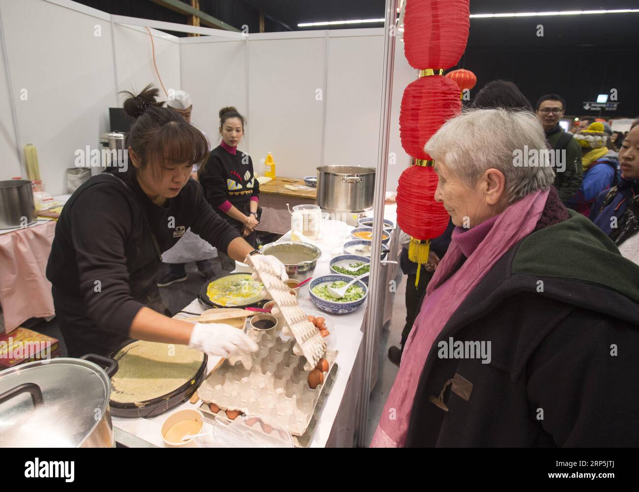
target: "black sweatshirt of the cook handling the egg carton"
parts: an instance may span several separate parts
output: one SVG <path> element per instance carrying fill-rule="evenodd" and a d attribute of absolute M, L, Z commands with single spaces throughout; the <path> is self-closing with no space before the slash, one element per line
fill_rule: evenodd
<path fill-rule="evenodd" d="M 124 175 L 117 169 L 93 176 L 65 204 L 56 224 L 47 279 L 65 304 L 84 308 L 77 313 L 80 318 L 90 319 L 99 330 L 127 336 L 160 265 L 149 227 L 161 252 L 189 227 L 224 252 L 239 235 L 213 211 L 197 181 L 189 180 L 161 207 L 135 179 L 127 181 L 127 188 L 109 176 Z"/>

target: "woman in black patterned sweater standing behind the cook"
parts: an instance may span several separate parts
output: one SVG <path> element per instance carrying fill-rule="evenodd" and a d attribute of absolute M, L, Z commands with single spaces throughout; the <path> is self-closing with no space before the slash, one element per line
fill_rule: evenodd
<path fill-rule="evenodd" d="M 259 183 L 253 162 L 247 153 L 237 150 L 244 136 L 244 117 L 235 107 L 220 109 L 222 142 L 211 151 L 208 162 L 199 170 L 204 197 L 213 210 L 227 220 L 253 247 L 257 246 L 255 229 L 259 224 Z M 222 268 L 233 270 L 235 261 L 218 251 Z"/>

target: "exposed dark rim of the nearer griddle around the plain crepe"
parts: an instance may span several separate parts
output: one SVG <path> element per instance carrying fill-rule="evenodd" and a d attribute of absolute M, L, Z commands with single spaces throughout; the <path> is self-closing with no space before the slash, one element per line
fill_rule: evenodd
<path fill-rule="evenodd" d="M 127 345 L 130 345 L 137 340 L 128 340 L 120 344 L 109 357 L 115 358 L 118 355 L 118 352 L 123 350 Z M 194 392 L 196 392 L 197 387 L 204 380 L 204 376 L 206 375 L 206 362 L 208 357 L 204 354 L 204 358 L 202 360 L 202 364 L 197 368 L 196 373 L 193 374 L 193 377 L 190 378 L 186 383 L 181 385 L 179 388 L 167 393 L 166 395 L 158 396 L 156 398 L 136 402 L 136 403 L 120 403 L 117 401 L 109 401 L 109 407 L 111 408 L 111 414 L 114 417 L 123 417 L 124 419 L 137 419 L 138 417 L 142 417 L 144 419 L 151 419 L 151 417 L 157 417 L 158 415 L 162 415 L 167 410 L 171 410 L 175 406 L 178 406 L 180 403 L 187 401 Z M 117 373 L 116 373 L 117 374 Z"/>

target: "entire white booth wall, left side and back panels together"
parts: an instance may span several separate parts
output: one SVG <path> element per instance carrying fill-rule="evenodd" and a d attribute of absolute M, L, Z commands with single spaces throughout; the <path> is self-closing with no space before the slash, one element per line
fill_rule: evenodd
<path fill-rule="evenodd" d="M 65 193 L 65 170 L 73 167 L 76 150 L 98 148 L 100 134 L 109 130 L 108 108 L 121 105 L 118 92 L 139 91 L 149 82 L 160 88 L 150 37 L 144 27 L 116 24 L 109 14 L 70 0 L 0 0 L 0 16 L 9 67 L 0 77 L 0 179 L 26 175 L 19 156 L 32 143 L 47 192 Z M 268 151 L 280 176 L 315 174 L 321 164 L 376 167 L 382 28 L 248 38 L 226 31 L 190 38 L 151 33 L 165 88 L 190 93 L 192 121 L 214 145 L 219 109 L 235 105 L 248 120 L 240 148 L 256 167 Z M 399 105 L 416 77 L 398 39 L 389 190 L 409 161 L 399 141 Z"/>

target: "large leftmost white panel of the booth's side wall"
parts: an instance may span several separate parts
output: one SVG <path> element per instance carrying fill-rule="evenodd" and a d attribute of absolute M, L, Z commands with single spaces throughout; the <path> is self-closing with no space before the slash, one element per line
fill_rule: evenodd
<path fill-rule="evenodd" d="M 42 180 L 59 194 L 75 150 L 97 144 L 107 125 L 105 108 L 115 102 L 109 16 L 42 0 L 2 1 L 0 8 L 20 134 L 10 155 L 34 144 Z M 101 36 L 94 35 L 96 26 Z M 3 127 L 11 114 L 3 112 Z M 10 176 L 3 164 L 2 178 L 12 176 L 26 173 L 13 169 Z"/>

